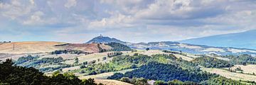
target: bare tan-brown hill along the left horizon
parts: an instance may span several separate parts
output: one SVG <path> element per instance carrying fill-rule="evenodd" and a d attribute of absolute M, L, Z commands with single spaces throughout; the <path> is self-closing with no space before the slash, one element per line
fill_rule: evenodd
<path fill-rule="evenodd" d="M 102 49 L 109 50 L 112 47 L 99 44 Z M 85 52 L 99 52 L 97 43 L 92 44 L 71 44 L 65 42 L 46 42 L 46 41 L 29 41 L 29 42 L 5 42 L 0 45 L 0 53 L 8 54 L 26 54 L 53 52 L 55 50 L 82 50 Z"/>

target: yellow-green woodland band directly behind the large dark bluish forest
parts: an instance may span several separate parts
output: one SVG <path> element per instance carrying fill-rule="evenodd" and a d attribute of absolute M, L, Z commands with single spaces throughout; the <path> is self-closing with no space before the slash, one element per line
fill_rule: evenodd
<path fill-rule="evenodd" d="M 148 62 L 160 62 L 169 63 L 171 60 L 176 60 L 174 55 L 119 55 L 113 57 L 111 62 L 102 64 L 88 64 L 87 67 L 83 69 L 73 70 L 73 72 L 82 72 L 87 74 L 100 74 L 104 72 L 114 72 L 124 69 L 134 69 L 141 67 Z"/>

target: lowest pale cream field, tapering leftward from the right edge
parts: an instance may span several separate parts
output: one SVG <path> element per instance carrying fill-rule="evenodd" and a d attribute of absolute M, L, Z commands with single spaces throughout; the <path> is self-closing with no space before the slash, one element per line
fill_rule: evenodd
<path fill-rule="evenodd" d="M 243 80 L 243 81 L 256 81 L 256 76 L 250 74 L 242 74 L 236 72 L 229 72 L 225 69 L 217 69 L 217 68 L 202 68 L 203 71 L 220 74 L 220 76 L 235 79 L 235 80 Z"/>

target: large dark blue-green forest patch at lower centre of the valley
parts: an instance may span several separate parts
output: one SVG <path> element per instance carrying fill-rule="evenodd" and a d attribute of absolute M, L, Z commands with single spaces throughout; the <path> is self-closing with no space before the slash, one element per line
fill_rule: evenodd
<path fill-rule="evenodd" d="M 122 74 L 115 74 L 109 79 L 119 79 L 122 78 Z M 132 72 L 126 72 L 123 74 L 123 77 L 143 77 L 145 79 L 152 79 L 152 80 L 162 80 L 162 81 L 171 81 L 174 79 L 178 79 L 181 81 L 194 81 L 194 82 L 201 82 L 208 80 L 212 77 L 218 77 L 215 74 L 209 74 L 207 72 L 191 72 L 187 69 L 182 69 L 177 65 L 173 64 L 161 64 L 157 62 L 151 62 L 146 64 L 139 69 L 134 69 Z"/>

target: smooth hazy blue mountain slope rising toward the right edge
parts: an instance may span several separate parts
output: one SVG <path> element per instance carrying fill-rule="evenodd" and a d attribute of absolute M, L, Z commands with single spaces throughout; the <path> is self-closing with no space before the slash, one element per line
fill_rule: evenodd
<path fill-rule="evenodd" d="M 243 33 L 213 35 L 204 38 L 181 40 L 179 42 L 195 45 L 210 45 L 215 47 L 239 47 L 256 50 L 256 30 L 249 30 Z"/>

